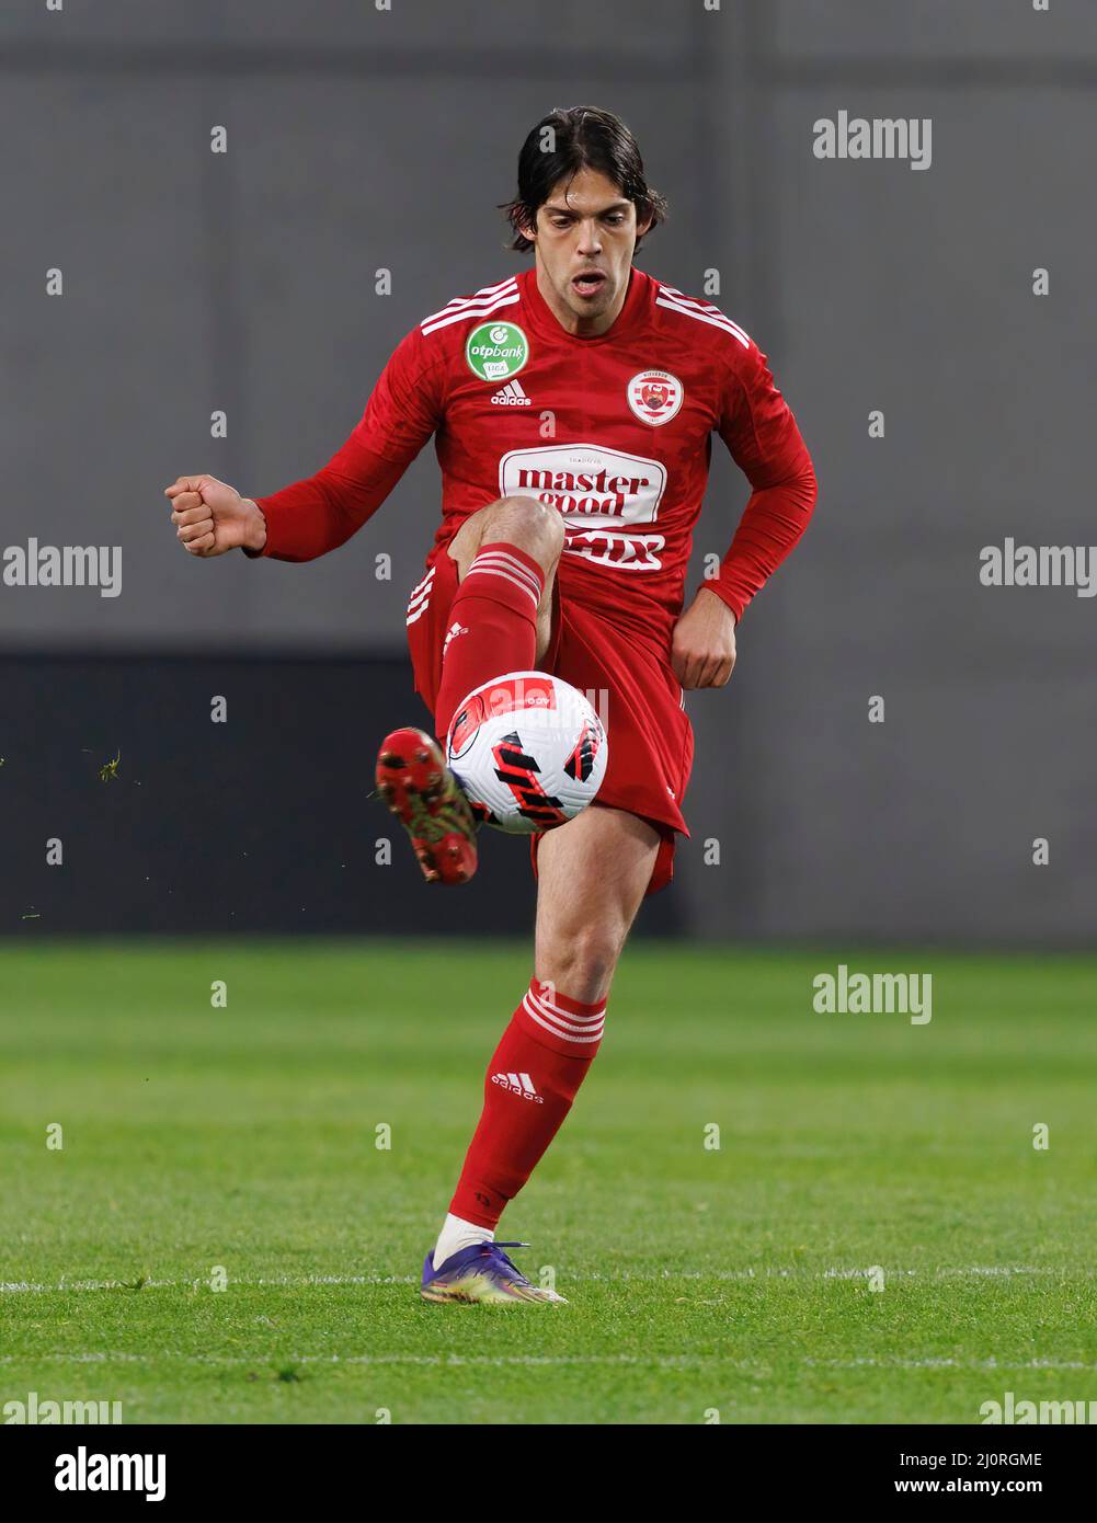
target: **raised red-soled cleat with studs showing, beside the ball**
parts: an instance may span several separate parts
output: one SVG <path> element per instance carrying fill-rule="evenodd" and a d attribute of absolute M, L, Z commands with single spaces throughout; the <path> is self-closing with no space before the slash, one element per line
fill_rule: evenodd
<path fill-rule="evenodd" d="M 381 742 L 376 790 L 411 836 L 427 882 L 468 883 L 477 822 L 437 742 L 422 730 L 393 730 Z"/>

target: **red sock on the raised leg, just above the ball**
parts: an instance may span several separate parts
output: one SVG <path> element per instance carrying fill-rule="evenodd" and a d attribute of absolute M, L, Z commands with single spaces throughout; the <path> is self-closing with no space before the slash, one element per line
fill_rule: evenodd
<path fill-rule="evenodd" d="M 503 541 L 483 545 L 449 606 L 449 634 L 434 728 L 445 736 L 463 698 L 504 672 L 530 672 L 536 659 L 536 609 L 544 571 Z"/>

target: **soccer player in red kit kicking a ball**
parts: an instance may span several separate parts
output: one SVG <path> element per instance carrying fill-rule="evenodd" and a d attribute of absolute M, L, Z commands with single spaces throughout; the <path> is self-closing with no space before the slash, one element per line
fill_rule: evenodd
<path fill-rule="evenodd" d="M 532 267 L 425 317 L 321 471 L 259 500 L 209 475 L 166 489 L 190 554 L 311 560 L 361 528 L 433 436 L 442 522 L 407 627 L 436 734 L 474 688 L 527 670 L 593 696 L 608 725 L 597 801 L 533 838 L 533 978 L 488 1065 L 424 1264 L 430 1301 L 562 1299 L 530 1284 L 503 1252 L 524 1244 L 495 1243 L 495 1228 L 594 1060 L 640 902 L 670 879 L 693 760 L 683 690 L 728 681 L 744 609 L 815 504 L 757 344 L 635 267 L 664 203 L 623 122 L 587 107 L 538 122 L 507 215 Z M 753 492 L 719 574 L 683 612 L 713 434 Z M 427 879 L 468 879 L 475 821 L 434 740 L 393 731 L 378 784 Z"/>

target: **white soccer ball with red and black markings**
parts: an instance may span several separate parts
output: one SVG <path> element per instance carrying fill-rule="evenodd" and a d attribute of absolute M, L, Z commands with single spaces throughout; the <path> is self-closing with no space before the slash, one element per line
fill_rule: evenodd
<path fill-rule="evenodd" d="M 562 825 L 602 786 L 609 742 L 584 694 L 545 672 L 474 688 L 446 736 L 446 762 L 477 813 L 510 835 Z"/>

